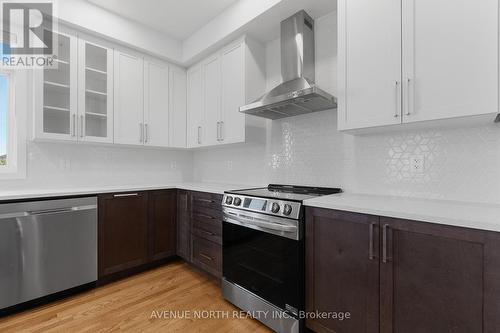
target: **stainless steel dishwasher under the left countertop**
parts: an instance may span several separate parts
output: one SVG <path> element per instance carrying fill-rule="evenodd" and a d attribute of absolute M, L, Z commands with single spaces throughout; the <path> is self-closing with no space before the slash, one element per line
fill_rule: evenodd
<path fill-rule="evenodd" d="M 96 197 L 0 204 L 0 309 L 96 280 Z"/>

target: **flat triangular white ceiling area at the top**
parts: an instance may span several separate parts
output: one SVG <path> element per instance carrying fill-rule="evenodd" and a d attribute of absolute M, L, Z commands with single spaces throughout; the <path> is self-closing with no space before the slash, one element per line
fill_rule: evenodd
<path fill-rule="evenodd" d="M 237 0 L 87 0 L 178 40 L 184 40 Z"/>

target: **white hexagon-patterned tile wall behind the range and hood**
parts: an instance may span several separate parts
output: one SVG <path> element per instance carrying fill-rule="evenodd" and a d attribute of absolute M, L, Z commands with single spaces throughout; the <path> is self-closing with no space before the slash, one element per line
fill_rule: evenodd
<path fill-rule="evenodd" d="M 336 14 L 316 20 L 316 82 L 335 93 Z M 267 45 L 268 89 L 281 81 L 279 40 Z M 197 151 L 197 181 L 340 186 L 346 191 L 500 203 L 500 126 L 352 136 L 337 114 L 268 121 L 261 140 Z M 413 155 L 423 173 L 410 172 Z"/>

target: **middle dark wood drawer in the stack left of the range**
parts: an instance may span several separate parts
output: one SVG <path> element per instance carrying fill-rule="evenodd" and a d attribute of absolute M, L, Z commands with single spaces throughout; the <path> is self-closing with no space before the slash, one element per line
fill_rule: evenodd
<path fill-rule="evenodd" d="M 222 244 L 222 214 L 220 212 L 211 209 L 193 212 L 192 221 L 193 234 Z"/>

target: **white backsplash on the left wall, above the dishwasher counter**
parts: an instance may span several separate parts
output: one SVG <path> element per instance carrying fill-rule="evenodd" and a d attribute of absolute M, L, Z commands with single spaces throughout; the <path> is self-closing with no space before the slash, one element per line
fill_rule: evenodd
<path fill-rule="evenodd" d="M 192 179 L 187 151 L 30 142 L 27 178 L 2 190 L 74 186 L 154 185 Z"/>

